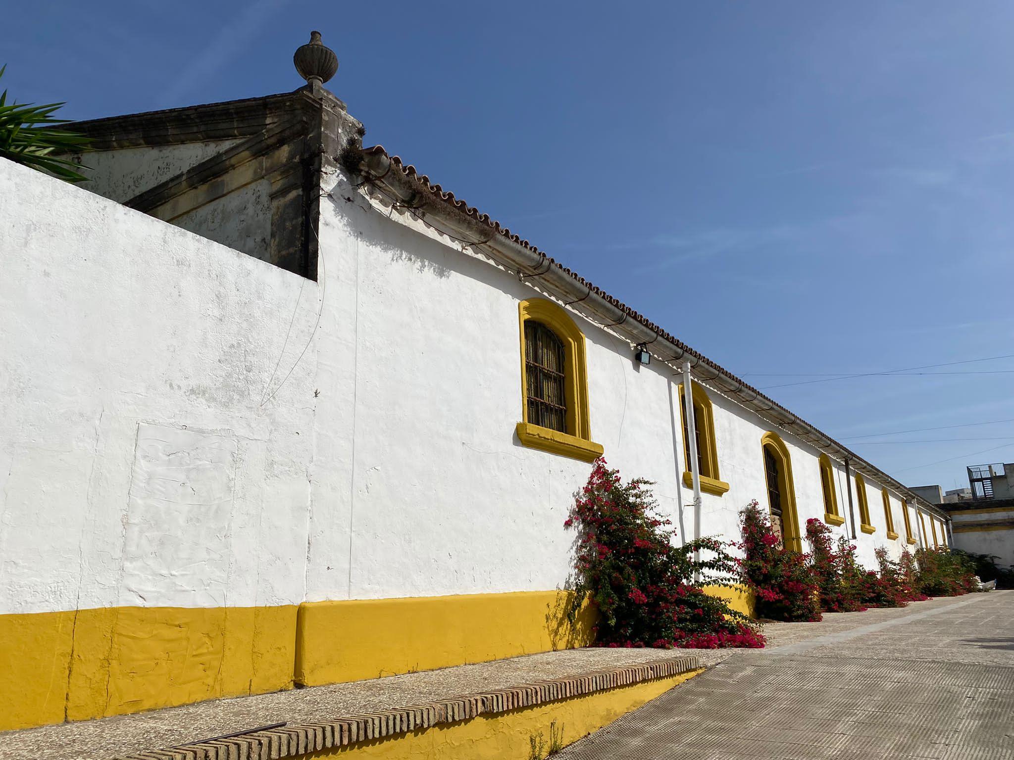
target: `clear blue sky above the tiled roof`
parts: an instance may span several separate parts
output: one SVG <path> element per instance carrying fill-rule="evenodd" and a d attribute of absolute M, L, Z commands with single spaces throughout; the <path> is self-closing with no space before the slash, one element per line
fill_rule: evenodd
<path fill-rule="evenodd" d="M 1012 372 L 771 387 L 1014 355 L 1014 3 L 567 7 L 40 0 L 0 63 L 89 119 L 295 89 L 318 28 L 367 144 L 902 482 L 1014 461 L 1011 422 L 853 438 L 1014 420 Z"/>

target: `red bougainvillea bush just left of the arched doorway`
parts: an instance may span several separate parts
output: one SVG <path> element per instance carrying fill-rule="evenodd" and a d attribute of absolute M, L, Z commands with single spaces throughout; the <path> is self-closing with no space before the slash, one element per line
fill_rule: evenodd
<path fill-rule="evenodd" d="M 740 573 L 756 597 L 757 617 L 819 620 L 818 584 L 809 556 L 782 546 L 755 500 L 742 509 L 739 519 Z"/>

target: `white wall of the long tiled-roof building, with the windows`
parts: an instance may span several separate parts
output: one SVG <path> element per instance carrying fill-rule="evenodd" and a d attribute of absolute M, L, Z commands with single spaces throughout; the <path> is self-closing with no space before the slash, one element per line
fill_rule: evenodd
<path fill-rule="evenodd" d="M 563 528 L 590 465 L 525 448 L 518 302 L 540 294 L 408 215 L 369 208 L 342 186 L 322 206 L 325 308 L 319 330 L 307 597 L 384 598 L 552 589 L 570 572 Z M 355 198 L 349 202 L 346 197 Z M 592 438 L 611 466 L 655 481 L 664 512 L 694 535 L 682 485 L 678 385 L 660 363 L 575 315 L 587 339 Z M 772 429 L 711 391 L 722 497 L 704 495 L 702 535 L 738 537 L 738 512 L 767 506 L 760 437 Z M 819 452 L 782 434 L 800 525 L 822 518 Z M 334 466 L 347 461 L 349 469 Z M 848 518 L 844 474 L 838 502 Z M 877 531 L 858 558 L 898 556 L 880 485 L 867 479 Z M 858 508 L 857 508 L 858 519 Z M 835 528 L 845 535 L 845 527 Z"/>

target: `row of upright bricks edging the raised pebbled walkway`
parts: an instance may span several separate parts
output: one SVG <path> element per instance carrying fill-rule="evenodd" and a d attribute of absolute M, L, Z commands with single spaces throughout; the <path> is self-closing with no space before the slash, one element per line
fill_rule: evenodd
<path fill-rule="evenodd" d="M 333 747 L 392 737 L 479 715 L 508 712 L 558 699 L 667 678 L 700 668 L 697 657 L 657 660 L 643 665 L 592 671 L 567 678 L 534 681 L 496 691 L 484 691 L 408 707 L 343 715 L 335 720 L 286 726 L 281 729 L 185 744 L 167 750 L 140 752 L 118 760 L 281 760 Z"/>

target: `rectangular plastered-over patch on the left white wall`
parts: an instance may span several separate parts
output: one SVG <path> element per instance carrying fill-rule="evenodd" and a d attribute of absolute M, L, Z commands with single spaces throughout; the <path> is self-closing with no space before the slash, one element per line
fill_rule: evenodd
<path fill-rule="evenodd" d="M 226 604 L 236 440 L 141 423 L 120 602 Z"/>

